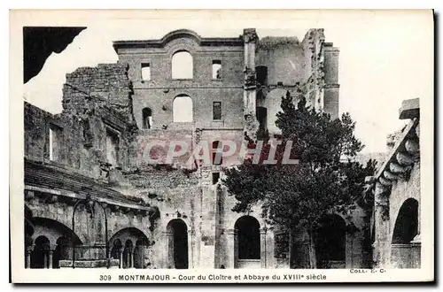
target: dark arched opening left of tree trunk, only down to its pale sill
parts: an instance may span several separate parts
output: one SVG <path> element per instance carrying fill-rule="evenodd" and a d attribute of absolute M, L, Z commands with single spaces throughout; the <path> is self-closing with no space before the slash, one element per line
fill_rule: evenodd
<path fill-rule="evenodd" d="M 238 259 L 260 259 L 260 223 L 252 216 L 237 219 Z"/>

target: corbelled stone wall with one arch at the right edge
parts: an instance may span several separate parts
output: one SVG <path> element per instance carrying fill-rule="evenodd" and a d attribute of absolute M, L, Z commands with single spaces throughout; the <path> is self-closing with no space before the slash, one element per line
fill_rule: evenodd
<path fill-rule="evenodd" d="M 370 227 L 377 267 L 421 265 L 419 109 L 418 98 L 403 102 L 400 119 L 409 119 L 408 125 L 395 134 L 393 145 L 389 137 L 391 152 L 370 178 L 369 196 L 374 202 Z"/>

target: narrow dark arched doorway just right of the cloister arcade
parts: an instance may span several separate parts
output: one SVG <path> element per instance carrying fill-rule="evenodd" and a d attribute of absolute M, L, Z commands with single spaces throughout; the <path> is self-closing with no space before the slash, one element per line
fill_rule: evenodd
<path fill-rule="evenodd" d="M 168 262 L 175 269 L 187 269 L 188 227 L 182 219 L 172 219 L 167 224 Z"/>

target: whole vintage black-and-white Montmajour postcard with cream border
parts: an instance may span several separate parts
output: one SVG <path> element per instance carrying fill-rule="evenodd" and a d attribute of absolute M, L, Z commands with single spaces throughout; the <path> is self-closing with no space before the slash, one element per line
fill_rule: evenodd
<path fill-rule="evenodd" d="M 10 13 L 13 282 L 434 280 L 431 10 Z"/>

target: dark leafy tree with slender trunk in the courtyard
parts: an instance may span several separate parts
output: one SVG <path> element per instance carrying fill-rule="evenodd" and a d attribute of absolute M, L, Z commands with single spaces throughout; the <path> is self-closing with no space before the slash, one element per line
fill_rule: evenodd
<path fill-rule="evenodd" d="M 307 230 L 309 265 L 315 268 L 315 234 L 321 219 L 331 212 L 354 208 L 364 178 L 375 171 L 375 162 L 369 160 L 363 167 L 352 161 L 363 145 L 354 136 L 355 123 L 348 113 L 332 120 L 329 114 L 308 107 L 304 97 L 296 107 L 289 92 L 282 97 L 281 107 L 276 119 L 281 134 L 275 137 L 282 142 L 276 148 L 277 164 L 263 163 L 270 151 L 266 144 L 259 163 L 247 158 L 237 168 L 225 169 L 223 183 L 229 195 L 237 199 L 233 211 L 251 211 L 253 205 L 261 203 L 261 216 L 270 224 L 285 227 L 291 234 L 298 228 Z M 250 148 L 258 144 L 247 139 Z M 291 158 L 299 158 L 299 164 L 284 164 L 289 142 Z"/>

